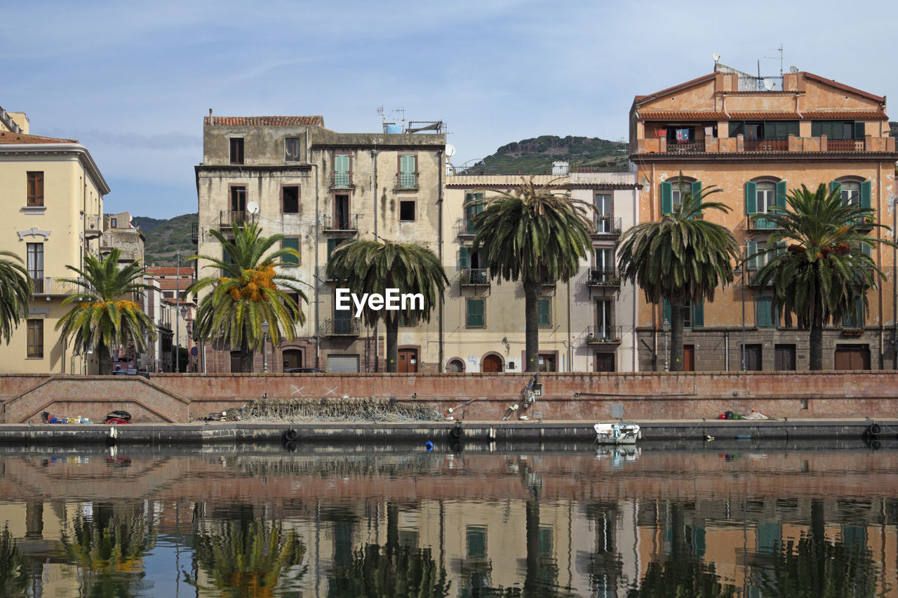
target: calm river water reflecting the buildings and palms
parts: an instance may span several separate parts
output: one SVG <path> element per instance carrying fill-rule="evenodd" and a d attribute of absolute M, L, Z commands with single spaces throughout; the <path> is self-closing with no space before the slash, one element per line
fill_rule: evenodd
<path fill-rule="evenodd" d="M 4 596 L 898 595 L 898 443 L 0 448 Z"/>

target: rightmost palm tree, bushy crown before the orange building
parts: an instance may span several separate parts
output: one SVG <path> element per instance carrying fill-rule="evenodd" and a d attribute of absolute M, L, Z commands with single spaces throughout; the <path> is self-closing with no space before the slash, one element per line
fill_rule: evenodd
<path fill-rule="evenodd" d="M 854 312 L 857 295 L 866 311 L 867 289 L 885 276 L 865 250 L 894 243 L 859 231 L 862 225 L 888 227 L 873 223 L 873 209 L 843 203 L 838 188 L 821 184 L 812 191 L 802 185 L 785 199 L 785 208 L 763 215 L 779 229 L 770 234 L 768 249 L 748 259 L 766 257 L 756 283 L 773 288 L 786 326 L 794 314 L 799 327 L 810 329 L 808 365 L 821 370 L 823 326 Z"/>

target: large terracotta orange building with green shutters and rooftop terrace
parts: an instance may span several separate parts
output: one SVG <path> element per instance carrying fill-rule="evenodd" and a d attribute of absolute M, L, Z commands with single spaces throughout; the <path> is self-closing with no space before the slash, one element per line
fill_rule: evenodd
<path fill-rule="evenodd" d="M 838 187 L 846 201 L 872 207 L 878 222 L 895 229 L 890 206 L 898 154 L 888 136 L 885 97 L 790 70 L 759 77 L 718 64 L 709 75 L 636 96 L 629 144 L 642 185 L 641 222 L 657 220 L 679 201 L 682 171 L 683 191 L 722 189 L 712 199 L 732 211 L 706 217 L 733 231 L 744 257 L 765 247 L 772 225 L 751 215 L 767 212 L 780 194 L 802 184 Z M 891 231 L 870 228 L 894 240 Z M 872 257 L 887 277 L 868 292 L 866 309 L 858 302 L 858 313 L 826 328 L 824 369 L 895 367 L 895 250 L 879 247 Z M 785 328 L 772 292 L 753 284 L 760 258 L 746 266 L 713 303 L 686 310 L 684 369 L 807 369 L 807 331 Z M 665 369 L 669 318 L 663 304 L 641 303 L 640 371 Z"/>

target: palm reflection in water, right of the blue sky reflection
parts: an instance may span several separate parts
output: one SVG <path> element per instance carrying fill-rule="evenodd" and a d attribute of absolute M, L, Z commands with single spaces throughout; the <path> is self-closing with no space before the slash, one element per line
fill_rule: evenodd
<path fill-rule="evenodd" d="M 303 562 L 304 544 L 281 522 L 240 517 L 216 527 L 217 532 L 197 532 L 196 558 L 221 595 L 272 596 L 287 570 Z M 305 568 L 299 576 L 304 573 Z"/>

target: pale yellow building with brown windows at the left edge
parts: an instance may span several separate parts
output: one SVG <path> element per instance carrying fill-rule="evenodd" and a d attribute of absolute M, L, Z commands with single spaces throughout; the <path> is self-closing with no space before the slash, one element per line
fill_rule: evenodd
<path fill-rule="evenodd" d="M 84 145 L 74 139 L 28 134 L 24 114 L 0 110 L 0 250 L 24 260 L 34 299 L 8 345 L 0 344 L 0 372 L 91 374 L 92 356 L 74 356 L 55 330 L 67 312 L 63 299 L 88 252 L 100 255 L 103 196 L 109 185 Z"/>

